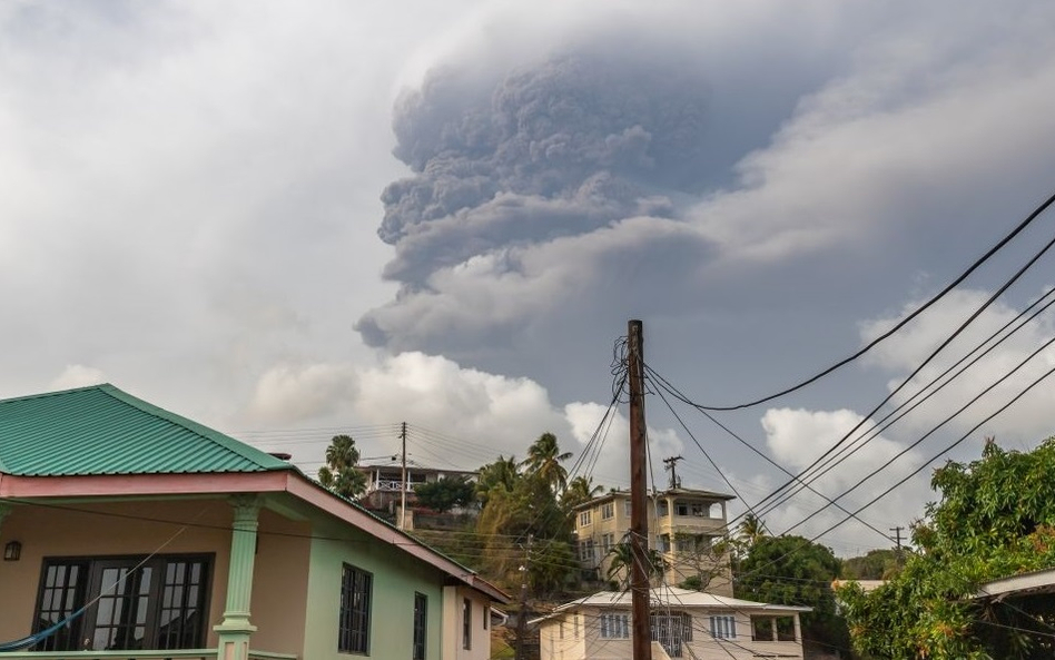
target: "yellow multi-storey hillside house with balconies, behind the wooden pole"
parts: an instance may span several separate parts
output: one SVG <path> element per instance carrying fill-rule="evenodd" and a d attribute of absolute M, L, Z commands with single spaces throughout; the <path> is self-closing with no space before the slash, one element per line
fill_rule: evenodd
<path fill-rule="evenodd" d="M 667 560 L 663 582 L 690 578 L 719 595 L 732 595 L 728 552 L 714 542 L 728 533 L 727 502 L 732 495 L 693 489 L 670 489 L 649 496 L 649 546 Z M 611 491 L 574 509 L 579 562 L 584 575 L 608 577 L 612 549 L 630 532 L 630 493 Z"/>

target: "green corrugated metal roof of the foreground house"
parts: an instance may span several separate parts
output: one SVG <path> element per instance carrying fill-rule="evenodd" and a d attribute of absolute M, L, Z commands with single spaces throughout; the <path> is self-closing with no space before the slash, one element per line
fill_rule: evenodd
<path fill-rule="evenodd" d="M 103 384 L 0 401 L 0 472 L 21 476 L 295 470 Z"/>

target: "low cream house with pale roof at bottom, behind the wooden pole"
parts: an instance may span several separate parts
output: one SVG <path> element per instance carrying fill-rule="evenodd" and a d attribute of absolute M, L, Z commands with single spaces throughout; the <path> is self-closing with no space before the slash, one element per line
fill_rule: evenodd
<path fill-rule="evenodd" d="M 802 658 L 799 614 L 810 608 L 658 588 L 650 595 L 652 658 Z M 602 591 L 531 621 L 541 660 L 630 660 L 631 594 Z"/>

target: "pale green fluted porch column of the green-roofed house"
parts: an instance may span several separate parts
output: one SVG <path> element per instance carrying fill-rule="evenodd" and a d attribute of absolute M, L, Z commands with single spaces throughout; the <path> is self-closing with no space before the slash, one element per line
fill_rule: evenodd
<path fill-rule="evenodd" d="M 248 660 L 249 636 L 256 627 L 249 623 L 253 597 L 253 564 L 256 560 L 256 529 L 260 511 L 258 495 L 235 495 L 230 499 L 235 518 L 230 532 L 230 565 L 227 572 L 227 607 L 224 620 L 214 625 L 219 650 L 217 660 Z"/>

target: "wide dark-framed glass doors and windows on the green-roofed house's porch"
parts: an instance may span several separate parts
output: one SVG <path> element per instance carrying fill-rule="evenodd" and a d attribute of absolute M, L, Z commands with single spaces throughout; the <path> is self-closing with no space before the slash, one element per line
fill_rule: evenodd
<path fill-rule="evenodd" d="M 36 630 L 50 628 L 85 603 L 92 604 L 37 650 L 200 648 L 210 563 L 206 556 L 175 555 L 47 559 Z"/>

